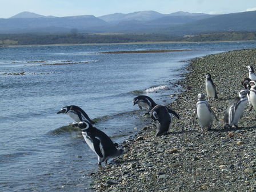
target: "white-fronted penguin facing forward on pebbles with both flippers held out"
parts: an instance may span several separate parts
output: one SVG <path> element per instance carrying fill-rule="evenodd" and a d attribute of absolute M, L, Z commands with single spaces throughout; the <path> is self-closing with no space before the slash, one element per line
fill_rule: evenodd
<path fill-rule="evenodd" d="M 211 126 L 213 125 L 213 116 L 217 121 L 218 118 L 214 114 L 209 104 L 205 101 L 205 94 L 199 93 L 197 98 L 197 109 L 194 111 L 193 124 L 195 122 L 195 117 L 197 116 L 202 131 L 203 127 L 207 127 L 207 131 L 209 131 L 211 129 Z"/>

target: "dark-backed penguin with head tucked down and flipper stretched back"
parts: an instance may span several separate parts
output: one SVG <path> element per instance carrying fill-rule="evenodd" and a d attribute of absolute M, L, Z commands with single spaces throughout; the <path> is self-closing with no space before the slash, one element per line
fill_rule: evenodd
<path fill-rule="evenodd" d="M 164 105 L 157 105 L 150 111 L 150 117 L 157 121 L 157 134 L 155 136 L 164 135 L 169 130 L 172 115 L 175 115 L 179 119 L 179 115 L 175 111 L 169 109 Z"/>

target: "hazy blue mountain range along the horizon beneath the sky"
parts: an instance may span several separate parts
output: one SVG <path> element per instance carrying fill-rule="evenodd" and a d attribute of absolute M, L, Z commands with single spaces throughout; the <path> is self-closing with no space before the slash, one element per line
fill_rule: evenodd
<path fill-rule="evenodd" d="M 44 16 L 22 12 L 0 19 L 0 33 L 162 33 L 190 35 L 217 31 L 256 31 L 256 11 L 211 15 L 178 11 L 115 13 L 95 17 Z"/>

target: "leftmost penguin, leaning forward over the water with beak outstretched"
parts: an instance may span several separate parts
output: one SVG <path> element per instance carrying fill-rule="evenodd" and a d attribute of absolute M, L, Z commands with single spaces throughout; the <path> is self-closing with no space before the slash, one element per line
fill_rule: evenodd
<path fill-rule="evenodd" d="M 60 111 L 58 111 L 57 114 L 65 113 L 69 115 L 72 119 L 74 119 L 75 122 L 81 122 L 81 121 L 88 121 L 91 124 L 94 124 L 95 122 L 92 121 L 88 115 L 83 111 L 80 107 L 75 105 L 65 106 L 62 107 Z"/>

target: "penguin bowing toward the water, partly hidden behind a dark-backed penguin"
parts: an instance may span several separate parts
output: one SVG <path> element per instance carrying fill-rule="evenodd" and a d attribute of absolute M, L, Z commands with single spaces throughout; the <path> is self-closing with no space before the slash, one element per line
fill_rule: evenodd
<path fill-rule="evenodd" d="M 155 103 L 153 99 L 146 95 L 139 95 L 138 97 L 135 97 L 133 99 L 133 106 L 136 104 L 138 104 L 139 109 L 147 110 L 147 113 L 145 114 L 149 114 L 150 110 L 157 106 L 157 103 Z"/>

